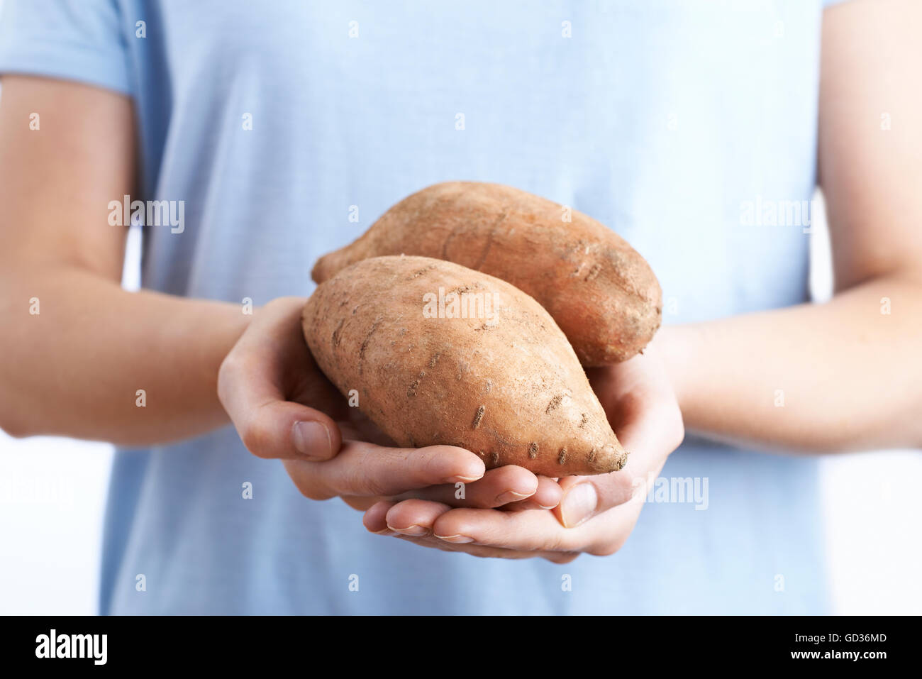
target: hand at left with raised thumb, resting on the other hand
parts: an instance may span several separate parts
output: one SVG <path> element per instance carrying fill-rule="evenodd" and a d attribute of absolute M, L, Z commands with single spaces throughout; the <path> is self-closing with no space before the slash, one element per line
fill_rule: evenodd
<path fill-rule="evenodd" d="M 219 399 L 243 445 L 259 458 L 281 459 L 301 494 L 339 495 L 361 510 L 411 497 L 509 509 L 560 502 L 556 482 L 522 467 L 486 471 L 464 448 L 392 447 L 314 363 L 301 331 L 305 302 L 279 297 L 256 309 L 218 375 Z M 455 497 L 459 482 L 463 499 Z M 397 530 L 413 534 L 413 527 Z"/>

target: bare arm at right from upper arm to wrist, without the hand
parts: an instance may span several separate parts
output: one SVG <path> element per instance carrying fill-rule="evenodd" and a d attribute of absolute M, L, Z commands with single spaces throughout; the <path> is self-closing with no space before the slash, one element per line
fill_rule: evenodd
<path fill-rule="evenodd" d="M 824 13 L 819 156 L 836 294 L 663 328 L 689 430 L 809 451 L 922 447 L 919 25 L 912 0 Z"/>

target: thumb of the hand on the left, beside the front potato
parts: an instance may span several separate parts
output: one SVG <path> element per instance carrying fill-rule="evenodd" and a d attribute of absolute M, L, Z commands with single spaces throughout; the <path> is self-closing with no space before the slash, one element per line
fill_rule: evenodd
<path fill-rule="evenodd" d="M 342 438 L 325 413 L 285 400 L 258 357 L 229 356 L 221 364 L 218 395 L 243 445 L 259 458 L 325 460 Z"/>

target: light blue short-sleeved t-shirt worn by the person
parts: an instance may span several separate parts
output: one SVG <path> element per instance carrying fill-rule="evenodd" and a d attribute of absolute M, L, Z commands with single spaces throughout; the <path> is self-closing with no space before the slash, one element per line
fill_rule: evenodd
<path fill-rule="evenodd" d="M 6 0 L 0 71 L 134 98 L 136 198 L 184 201 L 182 232 L 145 227 L 146 288 L 307 295 L 318 256 L 469 179 L 608 224 L 684 323 L 808 298 L 792 204 L 815 185 L 821 17 L 821 0 Z M 120 450 L 101 611 L 826 611 L 815 459 L 689 440 L 662 476 L 620 553 L 558 566 L 372 535 L 231 427 Z"/>

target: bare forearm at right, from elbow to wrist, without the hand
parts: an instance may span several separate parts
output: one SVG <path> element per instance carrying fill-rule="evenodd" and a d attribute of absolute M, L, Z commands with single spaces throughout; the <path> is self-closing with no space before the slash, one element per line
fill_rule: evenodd
<path fill-rule="evenodd" d="M 922 446 L 916 282 L 872 280 L 828 304 L 667 327 L 655 341 L 692 432 L 814 452 Z"/>

